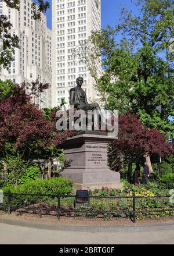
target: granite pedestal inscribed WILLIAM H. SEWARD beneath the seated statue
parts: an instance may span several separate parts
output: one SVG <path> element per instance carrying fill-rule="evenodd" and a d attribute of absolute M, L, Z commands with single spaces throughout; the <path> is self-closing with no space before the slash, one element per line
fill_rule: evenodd
<path fill-rule="evenodd" d="M 120 174 L 108 167 L 108 143 L 114 140 L 105 133 L 79 133 L 64 143 L 66 165 L 60 176 L 75 182 L 74 190 L 120 189 Z"/>

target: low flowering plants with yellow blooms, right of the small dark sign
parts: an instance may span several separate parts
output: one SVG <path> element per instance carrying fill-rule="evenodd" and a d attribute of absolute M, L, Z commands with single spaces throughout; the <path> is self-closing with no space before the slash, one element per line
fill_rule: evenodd
<path fill-rule="evenodd" d="M 129 185 L 128 188 L 124 191 L 117 190 L 117 193 L 114 195 L 125 196 L 126 198 L 112 198 L 111 193 L 112 189 L 102 188 L 102 190 L 93 191 L 93 195 L 105 194 L 106 191 L 109 198 L 103 198 L 103 195 L 100 198 L 91 198 L 89 207 L 78 208 L 75 212 L 75 216 L 84 216 L 88 218 L 96 218 L 102 216 L 105 220 L 108 220 L 112 217 L 132 217 L 132 194 L 133 190 L 135 191 L 136 196 L 136 211 L 153 211 L 146 213 L 137 213 L 136 219 L 145 219 L 145 218 L 160 218 L 166 216 L 174 216 L 174 213 L 168 211 L 172 208 L 171 202 L 168 197 L 157 198 L 155 195 L 169 195 L 169 190 L 162 189 L 158 184 L 148 183 L 146 186 L 132 186 Z M 128 198 L 130 197 L 130 198 Z M 158 210 L 164 209 L 164 212 L 155 212 Z M 121 213 L 125 211 L 125 213 Z M 100 214 L 101 212 L 106 212 Z M 113 212 L 112 214 L 110 212 Z"/>

